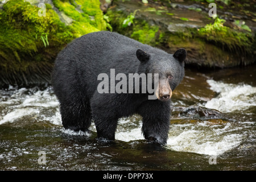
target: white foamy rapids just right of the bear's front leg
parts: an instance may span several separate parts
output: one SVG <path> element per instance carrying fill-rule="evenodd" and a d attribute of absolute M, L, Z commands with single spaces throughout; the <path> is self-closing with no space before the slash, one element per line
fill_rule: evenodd
<path fill-rule="evenodd" d="M 243 135 L 238 132 L 233 133 L 232 124 L 211 125 L 210 122 L 172 125 L 167 140 L 167 147 L 176 151 L 195 152 L 205 155 L 220 155 L 225 151 L 238 146 Z"/>

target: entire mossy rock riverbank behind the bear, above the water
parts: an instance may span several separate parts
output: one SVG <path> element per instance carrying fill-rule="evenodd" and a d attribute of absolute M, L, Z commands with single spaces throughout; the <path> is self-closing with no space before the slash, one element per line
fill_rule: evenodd
<path fill-rule="evenodd" d="M 0 86 L 51 83 L 55 57 L 73 39 L 109 30 L 174 53 L 187 49 L 186 67 L 219 69 L 255 63 L 253 1 L 39 1 L 0 4 Z M 104 13 L 102 13 L 104 11 Z"/>

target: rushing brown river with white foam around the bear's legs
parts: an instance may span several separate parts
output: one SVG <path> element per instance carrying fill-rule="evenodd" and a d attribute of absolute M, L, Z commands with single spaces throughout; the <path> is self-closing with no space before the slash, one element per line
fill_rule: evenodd
<path fill-rule="evenodd" d="M 255 69 L 186 69 L 166 146 L 143 139 L 139 115 L 119 119 L 112 142 L 97 140 L 94 124 L 64 130 L 51 85 L 9 86 L 0 90 L 0 170 L 255 170 Z"/>

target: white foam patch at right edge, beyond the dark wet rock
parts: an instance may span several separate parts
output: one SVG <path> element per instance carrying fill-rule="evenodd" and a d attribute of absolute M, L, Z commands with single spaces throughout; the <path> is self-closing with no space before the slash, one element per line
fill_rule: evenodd
<path fill-rule="evenodd" d="M 208 101 L 205 107 L 229 113 L 256 106 L 256 87 L 245 84 L 226 84 L 214 80 L 207 80 L 207 82 L 210 85 L 210 89 L 220 94 L 218 97 Z"/>

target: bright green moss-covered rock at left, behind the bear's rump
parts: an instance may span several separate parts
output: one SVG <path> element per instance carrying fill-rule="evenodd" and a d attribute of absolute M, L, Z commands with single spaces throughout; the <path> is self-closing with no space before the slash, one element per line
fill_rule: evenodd
<path fill-rule="evenodd" d="M 0 8 L 0 86 L 49 83 L 57 53 L 73 39 L 106 30 L 100 1 L 10 0 Z"/>

